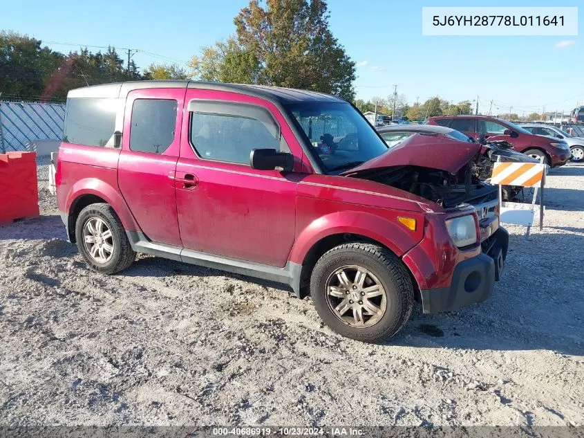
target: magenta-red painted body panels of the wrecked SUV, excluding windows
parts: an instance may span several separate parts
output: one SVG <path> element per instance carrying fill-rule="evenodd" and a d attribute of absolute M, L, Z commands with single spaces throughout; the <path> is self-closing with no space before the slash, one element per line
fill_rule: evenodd
<path fill-rule="evenodd" d="M 131 131 L 137 98 L 178 101 L 175 140 L 162 154 L 131 151 L 129 135 L 122 136 L 121 149 L 62 143 L 57 199 L 72 240 L 77 206 L 102 199 L 126 231 L 143 232 L 151 241 L 277 267 L 304 264 L 310 250 L 327 237 L 360 235 L 402 257 L 417 289 L 449 286 L 456 264 L 481 253 L 480 241 L 470 248 L 455 246 L 444 224 L 449 217 L 468 214 L 478 223 L 472 208 L 446 211 L 388 185 L 315 172 L 289 119 L 268 100 L 216 89 L 136 89 L 126 97 L 124 132 Z M 246 102 L 270 111 L 294 155 L 293 171 L 200 158 L 189 141 L 187 102 L 192 99 Z M 407 163 L 455 172 L 477 147 L 451 141 L 444 146 L 458 149 L 444 156 L 424 143 L 414 142 L 408 150 L 407 143 L 368 166 Z M 416 161 L 420 149 L 432 154 Z M 416 219 L 415 230 L 400 223 L 400 216 Z"/>

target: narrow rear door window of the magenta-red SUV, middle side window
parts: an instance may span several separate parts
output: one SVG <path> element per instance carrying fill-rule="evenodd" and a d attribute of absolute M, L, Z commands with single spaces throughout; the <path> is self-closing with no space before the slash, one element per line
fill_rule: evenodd
<path fill-rule="evenodd" d="M 169 99 L 136 99 L 132 106 L 130 149 L 162 154 L 174 141 L 178 102 Z"/>

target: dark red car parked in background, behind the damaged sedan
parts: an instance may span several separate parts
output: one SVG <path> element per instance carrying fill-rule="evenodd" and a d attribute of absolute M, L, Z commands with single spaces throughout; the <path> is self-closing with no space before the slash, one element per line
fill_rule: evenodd
<path fill-rule="evenodd" d="M 428 120 L 428 125 L 440 125 L 464 132 L 475 140 L 481 134 L 489 141 L 505 140 L 517 152 L 534 158 L 543 156 L 544 163 L 551 167 L 563 166 L 572 156 L 565 141 L 536 136 L 507 120 L 488 116 L 437 116 Z"/>

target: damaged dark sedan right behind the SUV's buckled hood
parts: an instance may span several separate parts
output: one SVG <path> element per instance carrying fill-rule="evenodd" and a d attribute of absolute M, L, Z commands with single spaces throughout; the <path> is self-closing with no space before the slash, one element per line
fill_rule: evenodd
<path fill-rule="evenodd" d="M 384 139 L 389 147 L 398 145 L 406 138 L 414 134 L 422 136 L 434 136 L 435 138 L 445 138 L 460 141 L 463 143 L 477 143 L 477 140 L 467 136 L 463 132 L 440 125 L 402 125 L 387 126 L 377 128 L 377 132 Z M 535 158 L 516 152 L 513 145 L 505 140 L 489 141 L 484 135 L 478 139 L 480 143 L 480 154 L 477 155 L 472 167 L 472 174 L 482 181 L 489 181 L 493 173 L 493 165 L 496 161 L 506 161 L 514 163 L 539 163 Z M 437 145 L 439 143 L 436 143 Z M 511 201 L 522 194 L 523 188 L 514 185 L 502 186 L 503 201 Z"/>

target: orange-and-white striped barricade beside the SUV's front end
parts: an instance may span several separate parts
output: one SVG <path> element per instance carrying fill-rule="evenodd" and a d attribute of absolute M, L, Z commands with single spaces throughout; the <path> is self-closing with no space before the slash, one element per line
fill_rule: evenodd
<path fill-rule="evenodd" d="M 529 237 L 529 228 L 534 225 L 537 211 L 539 211 L 539 229 L 543 228 L 543 188 L 546 174 L 547 165 L 543 164 L 543 157 L 540 163 L 497 161 L 493 165 L 491 184 L 499 185 L 499 220 L 502 223 L 527 226 L 526 238 Z M 534 199 L 532 199 L 531 203 L 503 202 L 501 196 L 502 185 L 534 188 Z M 540 190 L 539 205 L 536 204 L 538 190 Z"/>

